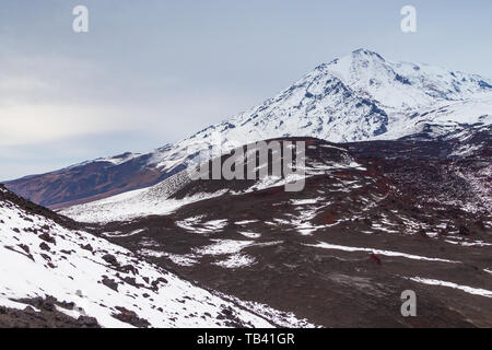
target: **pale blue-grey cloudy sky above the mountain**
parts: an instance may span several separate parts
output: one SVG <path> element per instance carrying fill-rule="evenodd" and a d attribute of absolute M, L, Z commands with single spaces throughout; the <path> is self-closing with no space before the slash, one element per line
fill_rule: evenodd
<path fill-rule="evenodd" d="M 89 33 L 72 31 L 78 4 Z M 491 13 L 490 0 L 2 0 L 0 179 L 151 151 L 360 47 L 492 78 Z"/>

